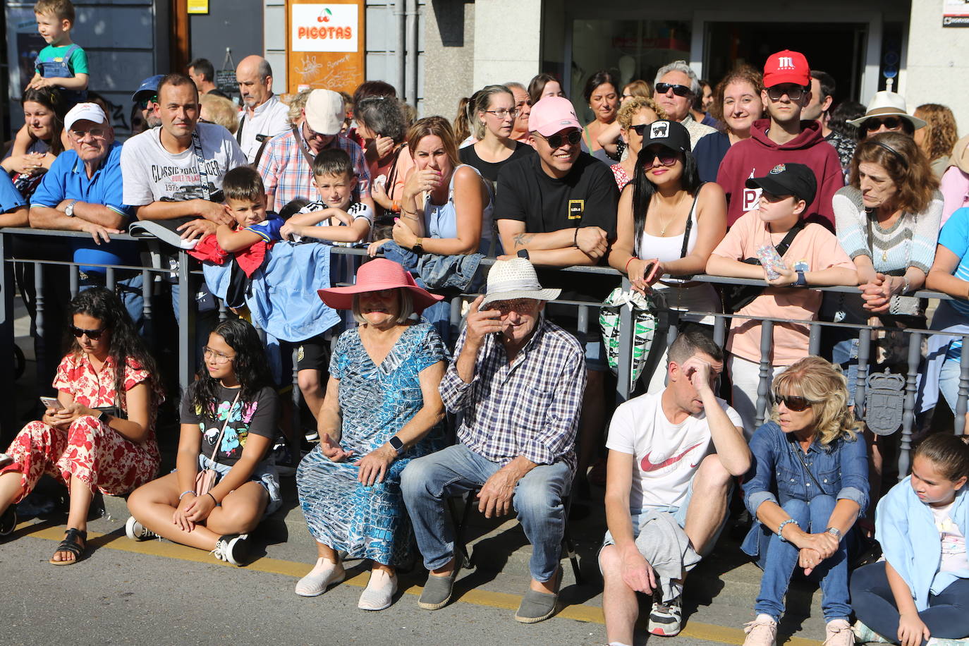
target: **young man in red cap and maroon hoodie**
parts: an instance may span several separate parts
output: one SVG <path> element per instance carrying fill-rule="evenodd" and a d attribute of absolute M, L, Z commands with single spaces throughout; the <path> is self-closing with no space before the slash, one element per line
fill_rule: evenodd
<path fill-rule="evenodd" d="M 761 100 L 769 118 L 758 119 L 749 139 L 730 147 L 720 163 L 717 184 L 727 194 L 727 226 L 757 208 L 761 189 L 748 187 L 750 177 L 762 177 L 778 164 L 796 162 L 814 172 L 818 191 L 808 202 L 804 218 L 834 230 L 831 199 L 845 184 L 838 153 L 825 140 L 821 124 L 801 120 L 811 100 L 811 68 L 804 54 L 784 49 L 770 54 L 764 64 Z"/>

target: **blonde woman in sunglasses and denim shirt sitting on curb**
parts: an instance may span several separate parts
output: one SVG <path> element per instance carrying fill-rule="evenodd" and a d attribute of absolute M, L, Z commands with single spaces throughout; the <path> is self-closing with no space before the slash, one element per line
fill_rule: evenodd
<path fill-rule="evenodd" d="M 764 569 L 744 646 L 773 646 L 794 569 L 821 579 L 828 646 L 851 646 L 848 540 L 868 502 L 860 422 L 837 367 L 807 356 L 774 379 L 770 420 L 750 443 L 743 485 L 756 518 L 741 549 Z"/>

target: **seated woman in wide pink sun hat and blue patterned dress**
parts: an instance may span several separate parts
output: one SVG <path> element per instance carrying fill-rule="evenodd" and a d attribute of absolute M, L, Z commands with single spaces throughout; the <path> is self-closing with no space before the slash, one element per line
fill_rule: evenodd
<path fill-rule="evenodd" d="M 359 325 L 336 342 L 319 416 L 320 446 L 297 470 L 317 561 L 296 593 L 316 597 L 342 581 L 343 550 L 347 558 L 372 564 L 358 607 L 383 610 L 397 589 L 396 567 L 407 561 L 413 543 L 400 472 L 412 458 L 445 445 L 438 386 L 448 351 L 430 323 L 411 318 L 442 297 L 386 259 L 364 263 L 355 285 L 319 294 L 334 309 L 352 310 Z"/>

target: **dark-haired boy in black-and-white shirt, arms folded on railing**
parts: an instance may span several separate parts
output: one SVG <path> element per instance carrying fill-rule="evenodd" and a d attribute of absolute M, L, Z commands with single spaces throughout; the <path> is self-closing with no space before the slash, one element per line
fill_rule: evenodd
<path fill-rule="evenodd" d="M 322 242 L 350 246 L 365 242 L 373 225 L 373 209 L 353 202 L 357 174 L 346 151 L 334 148 L 320 152 L 313 161 L 313 183 L 320 200 L 310 202 L 283 225 L 283 238 L 315 238 Z"/>

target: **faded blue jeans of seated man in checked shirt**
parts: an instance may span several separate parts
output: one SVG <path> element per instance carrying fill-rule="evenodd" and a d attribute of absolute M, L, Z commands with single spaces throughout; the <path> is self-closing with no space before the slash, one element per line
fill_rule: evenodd
<path fill-rule="evenodd" d="M 404 504 L 427 569 L 448 565 L 454 556 L 454 529 L 445 499 L 476 489 L 501 468 L 464 445 L 448 446 L 411 461 L 400 477 Z M 528 563 L 532 578 L 555 575 L 565 532 L 565 506 L 572 471 L 564 462 L 543 464 L 518 480 L 513 503 L 525 537 L 532 543 Z"/>

